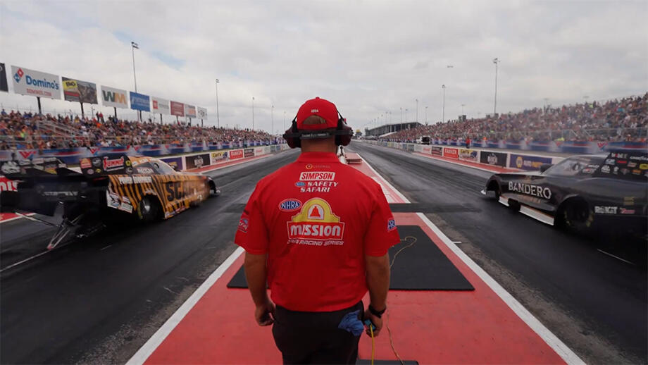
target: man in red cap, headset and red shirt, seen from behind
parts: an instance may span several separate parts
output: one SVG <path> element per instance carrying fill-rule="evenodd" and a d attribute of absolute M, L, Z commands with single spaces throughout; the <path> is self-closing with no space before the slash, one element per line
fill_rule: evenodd
<path fill-rule="evenodd" d="M 246 251 L 254 317 L 274 323 L 284 363 L 354 364 L 361 321 L 373 322 L 374 335 L 382 328 L 387 250 L 400 238 L 380 185 L 337 159 L 350 128 L 335 105 L 306 101 L 293 123 L 286 136 L 299 139 L 301 155 L 258 182 L 235 242 Z"/>

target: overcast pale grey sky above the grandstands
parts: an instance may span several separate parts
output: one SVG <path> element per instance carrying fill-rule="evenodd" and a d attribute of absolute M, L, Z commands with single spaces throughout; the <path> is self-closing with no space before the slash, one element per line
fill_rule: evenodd
<path fill-rule="evenodd" d="M 421 123 L 441 120 L 441 85 L 446 119 L 461 104 L 468 118 L 492 113 L 495 57 L 499 112 L 643 94 L 646 19 L 644 0 L 0 0 L 0 62 L 132 90 L 135 41 L 139 92 L 204 106 L 206 123 L 218 78 L 221 125 L 250 128 L 254 97 L 255 127 L 269 131 L 273 114 L 283 130 L 284 115 L 319 96 L 364 128 L 400 121 L 401 109 L 416 120 L 416 99 Z M 8 78 L 3 106 L 35 109 Z"/>

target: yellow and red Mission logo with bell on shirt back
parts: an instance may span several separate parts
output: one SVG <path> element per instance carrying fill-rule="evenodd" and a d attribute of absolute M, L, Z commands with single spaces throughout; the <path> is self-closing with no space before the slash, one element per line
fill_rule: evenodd
<path fill-rule="evenodd" d="M 330 204 L 321 198 L 309 199 L 301 211 L 286 223 L 288 243 L 294 245 L 344 245 L 344 223 L 336 216 Z"/>

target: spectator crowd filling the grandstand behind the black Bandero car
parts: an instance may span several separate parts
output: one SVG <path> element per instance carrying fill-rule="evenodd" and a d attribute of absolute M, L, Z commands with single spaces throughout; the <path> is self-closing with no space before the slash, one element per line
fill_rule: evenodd
<path fill-rule="evenodd" d="M 599 103 L 544 107 L 486 118 L 449 120 L 399 130 L 382 140 L 416 142 L 430 136 L 441 140 L 627 141 L 646 142 L 648 92 Z"/>

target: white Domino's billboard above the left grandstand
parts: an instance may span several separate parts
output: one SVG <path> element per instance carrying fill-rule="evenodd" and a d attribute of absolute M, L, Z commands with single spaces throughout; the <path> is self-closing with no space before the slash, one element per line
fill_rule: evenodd
<path fill-rule="evenodd" d="M 11 66 L 13 92 L 32 97 L 61 99 L 61 84 L 58 75 L 42 73 L 19 66 Z"/>

